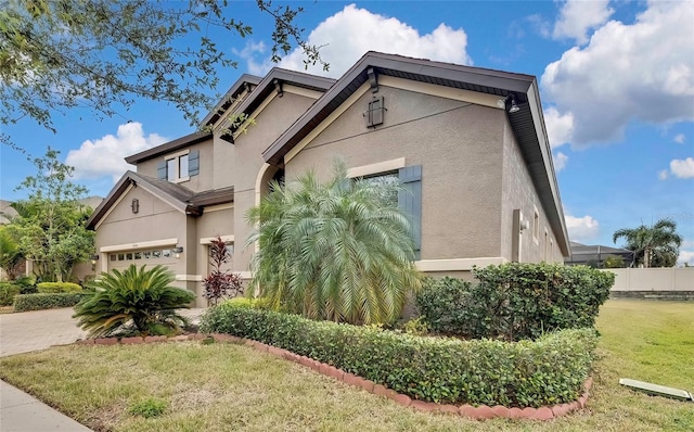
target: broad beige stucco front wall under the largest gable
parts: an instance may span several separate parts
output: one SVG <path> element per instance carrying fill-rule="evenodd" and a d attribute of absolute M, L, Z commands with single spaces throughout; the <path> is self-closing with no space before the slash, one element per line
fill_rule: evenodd
<path fill-rule="evenodd" d="M 348 167 L 406 158 L 422 165 L 422 259 L 501 254 L 502 110 L 380 86 L 385 122 L 367 128 L 360 97 L 286 161 L 287 179 L 308 168 L 327 177 L 333 160 Z"/>

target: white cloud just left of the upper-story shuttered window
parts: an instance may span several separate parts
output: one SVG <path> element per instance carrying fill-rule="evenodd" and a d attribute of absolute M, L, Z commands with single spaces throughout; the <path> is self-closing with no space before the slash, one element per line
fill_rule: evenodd
<path fill-rule="evenodd" d="M 116 136 L 106 135 L 82 142 L 79 150 L 70 150 L 65 163 L 75 167 L 77 179 L 99 179 L 112 176 L 116 181 L 132 165 L 125 157 L 163 144 L 167 140 L 156 134 L 145 136 L 140 123 L 118 126 Z"/>

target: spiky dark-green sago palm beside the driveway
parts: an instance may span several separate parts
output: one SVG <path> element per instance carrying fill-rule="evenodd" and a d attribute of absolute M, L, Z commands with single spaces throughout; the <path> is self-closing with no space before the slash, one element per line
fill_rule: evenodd
<path fill-rule="evenodd" d="M 77 306 L 73 318 L 90 338 L 116 333 L 169 334 L 188 325 L 176 309 L 188 308 L 192 292 L 171 287 L 176 280 L 163 266 L 146 270 L 131 265 L 126 270 L 102 272 L 91 282 L 94 292 Z"/>

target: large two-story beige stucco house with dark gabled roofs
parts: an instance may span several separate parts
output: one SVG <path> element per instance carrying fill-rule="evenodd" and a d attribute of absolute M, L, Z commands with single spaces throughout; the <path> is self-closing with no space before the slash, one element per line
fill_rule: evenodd
<path fill-rule="evenodd" d="M 230 127 L 240 115 L 245 124 Z M 336 81 L 243 75 L 204 125 L 211 132 L 126 158 L 137 173 L 88 223 L 102 270 L 166 265 L 202 305 L 210 240 L 221 236 L 231 269 L 249 278 L 248 208 L 271 179 L 326 177 L 335 158 L 351 177 L 400 179 L 428 274 L 569 254 L 532 76 L 369 52 Z"/>

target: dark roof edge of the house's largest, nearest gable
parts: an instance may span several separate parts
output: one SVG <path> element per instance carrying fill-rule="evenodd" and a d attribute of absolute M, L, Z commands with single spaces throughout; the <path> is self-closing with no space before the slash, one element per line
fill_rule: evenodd
<path fill-rule="evenodd" d="M 515 98 L 519 111 L 509 114 L 530 177 L 563 254 L 569 254 L 568 233 L 556 183 L 552 153 L 544 126 L 540 93 L 535 76 L 462 66 L 430 60 L 369 51 L 343 75 L 309 110 L 262 152 L 265 161 L 281 165 L 284 156 L 321 122 L 369 81 L 369 71 L 414 81 L 434 84 Z"/>

